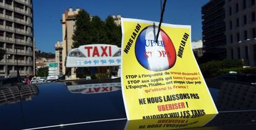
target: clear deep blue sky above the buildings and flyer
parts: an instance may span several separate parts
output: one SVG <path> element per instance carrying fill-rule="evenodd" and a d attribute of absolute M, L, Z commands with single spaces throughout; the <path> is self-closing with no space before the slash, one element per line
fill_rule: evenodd
<path fill-rule="evenodd" d="M 209 0 L 168 0 L 163 23 L 191 25 L 192 40 L 202 39 L 201 7 Z M 108 15 L 160 21 L 160 0 L 33 0 L 33 24 L 36 48 L 54 53 L 54 44 L 62 40 L 59 22 L 70 7 L 86 10 L 105 20 Z"/>

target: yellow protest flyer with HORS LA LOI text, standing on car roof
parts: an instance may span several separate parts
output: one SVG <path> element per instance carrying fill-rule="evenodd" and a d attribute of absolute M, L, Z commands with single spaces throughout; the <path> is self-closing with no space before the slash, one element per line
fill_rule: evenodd
<path fill-rule="evenodd" d="M 191 26 L 122 18 L 122 95 L 128 120 L 218 113 L 191 47 Z M 160 30 L 158 41 L 156 35 Z"/>

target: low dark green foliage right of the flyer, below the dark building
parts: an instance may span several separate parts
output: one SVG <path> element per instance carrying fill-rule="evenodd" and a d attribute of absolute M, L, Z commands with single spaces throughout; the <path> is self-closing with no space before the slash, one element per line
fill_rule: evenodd
<path fill-rule="evenodd" d="M 199 65 L 203 76 L 212 78 L 221 73 L 228 73 L 229 71 L 242 71 L 241 60 L 213 60 Z"/>

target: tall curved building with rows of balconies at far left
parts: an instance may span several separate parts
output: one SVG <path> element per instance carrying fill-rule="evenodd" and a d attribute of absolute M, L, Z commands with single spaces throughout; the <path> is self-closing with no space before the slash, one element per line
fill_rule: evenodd
<path fill-rule="evenodd" d="M 6 55 L 0 61 L 0 76 L 19 68 L 20 75 L 34 75 L 32 0 L 0 0 L 0 48 Z"/>

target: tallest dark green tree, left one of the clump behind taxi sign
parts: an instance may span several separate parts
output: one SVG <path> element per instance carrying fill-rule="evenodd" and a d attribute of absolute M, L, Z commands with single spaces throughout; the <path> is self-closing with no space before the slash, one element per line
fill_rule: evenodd
<path fill-rule="evenodd" d="M 90 22 L 90 14 L 85 10 L 80 10 L 76 15 L 75 31 L 72 39 L 74 41 L 73 48 L 79 47 L 83 44 L 92 44 L 92 25 Z"/>

